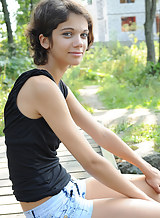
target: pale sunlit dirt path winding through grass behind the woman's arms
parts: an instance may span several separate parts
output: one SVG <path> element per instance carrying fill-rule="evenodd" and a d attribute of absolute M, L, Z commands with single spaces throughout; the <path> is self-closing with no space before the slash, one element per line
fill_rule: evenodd
<path fill-rule="evenodd" d="M 120 123 L 129 122 L 132 124 L 158 124 L 160 125 L 160 111 L 149 109 L 112 109 L 106 110 L 99 100 L 97 92 L 98 86 L 86 86 L 80 89 L 82 103 L 94 109 L 94 117 L 106 127 L 114 126 Z M 141 156 L 153 154 L 154 142 L 146 141 L 136 144 L 138 149 L 135 151 Z"/>

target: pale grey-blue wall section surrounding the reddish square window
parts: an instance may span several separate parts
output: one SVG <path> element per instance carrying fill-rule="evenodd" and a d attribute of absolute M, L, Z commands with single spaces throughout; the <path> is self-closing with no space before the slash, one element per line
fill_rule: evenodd
<path fill-rule="evenodd" d="M 117 39 L 119 41 L 129 41 L 130 35 L 134 34 L 139 40 L 144 40 L 145 8 L 144 0 L 135 0 L 135 3 L 120 3 L 120 0 L 107 1 L 108 17 L 108 41 Z M 136 17 L 136 31 L 122 32 L 121 18 Z"/>

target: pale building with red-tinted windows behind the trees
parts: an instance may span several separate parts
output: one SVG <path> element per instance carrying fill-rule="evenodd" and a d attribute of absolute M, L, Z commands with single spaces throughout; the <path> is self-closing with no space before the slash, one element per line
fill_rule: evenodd
<path fill-rule="evenodd" d="M 120 42 L 136 37 L 145 40 L 145 0 L 88 0 L 88 9 L 95 23 L 95 41 Z M 154 39 L 160 29 L 160 0 L 153 26 Z"/>

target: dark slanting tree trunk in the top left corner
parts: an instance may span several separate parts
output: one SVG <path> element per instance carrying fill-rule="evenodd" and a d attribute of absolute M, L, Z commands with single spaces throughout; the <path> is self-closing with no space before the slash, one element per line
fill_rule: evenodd
<path fill-rule="evenodd" d="M 7 8 L 7 2 L 6 0 L 0 0 L 2 3 L 2 9 L 3 9 L 3 13 L 4 13 L 4 21 L 6 23 L 6 27 L 7 27 L 7 36 L 8 36 L 8 44 L 9 46 L 11 46 L 11 44 L 13 44 L 13 34 L 12 34 L 12 28 L 11 28 L 11 21 L 9 18 L 9 12 L 8 12 L 8 8 Z"/>

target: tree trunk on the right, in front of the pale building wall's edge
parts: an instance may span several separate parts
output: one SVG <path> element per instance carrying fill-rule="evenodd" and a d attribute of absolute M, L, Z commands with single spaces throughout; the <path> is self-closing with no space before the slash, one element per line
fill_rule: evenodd
<path fill-rule="evenodd" d="M 155 47 L 153 37 L 153 23 L 156 13 L 156 0 L 145 0 L 145 38 L 147 45 L 147 62 L 155 63 Z"/>

